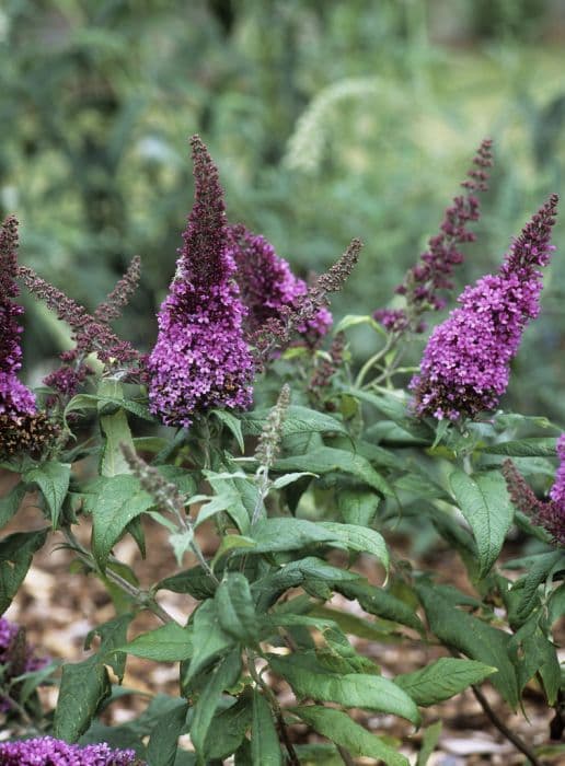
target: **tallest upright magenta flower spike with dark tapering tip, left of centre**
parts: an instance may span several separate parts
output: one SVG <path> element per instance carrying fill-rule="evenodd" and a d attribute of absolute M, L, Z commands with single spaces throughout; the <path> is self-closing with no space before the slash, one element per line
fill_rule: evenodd
<path fill-rule="evenodd" d="M 210 407 L 249 407 L 254 372 L 218 170 L 198 136 L 191 143 L 195 202 L 147 361 L 150 410 L 183 427 Z"/>

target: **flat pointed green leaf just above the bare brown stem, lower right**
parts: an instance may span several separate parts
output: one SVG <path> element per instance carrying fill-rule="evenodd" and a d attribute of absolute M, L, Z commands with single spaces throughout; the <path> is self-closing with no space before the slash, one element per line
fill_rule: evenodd
<path fill-rule="evenodd" d="M 443 657 L 419 671 L 397 675 L 394 683 L 410 694 L 416 705 L 427 707 L 453 697 L 472 684 L 480 684 L 493 673 L 496 668 L 482 662 Z"/>

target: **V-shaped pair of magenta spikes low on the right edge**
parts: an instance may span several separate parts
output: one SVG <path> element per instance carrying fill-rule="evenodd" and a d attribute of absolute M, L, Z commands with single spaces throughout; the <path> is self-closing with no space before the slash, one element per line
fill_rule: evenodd
<path fill-rule="evenodd" d="M 565 433 L 557 439 L 560 466 L 549 500 L 540 500 L 527 484 L 516 465 L 507 460 L 503 465 L 510 499 L 519 511 L 531 517 L 535 524 L 543 526 L 555 545 L 565 546 Z"/>

